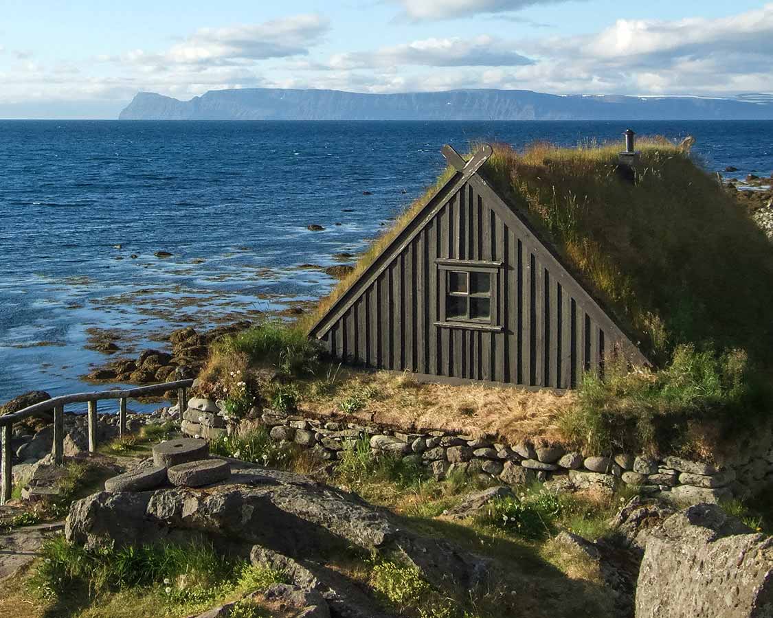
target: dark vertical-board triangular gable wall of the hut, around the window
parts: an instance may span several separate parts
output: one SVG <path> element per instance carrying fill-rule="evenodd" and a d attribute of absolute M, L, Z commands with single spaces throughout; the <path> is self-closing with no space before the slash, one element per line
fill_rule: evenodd
<path fill-rule="evenodd" d="M 380 272 L 358 282 L 346 311 L 323 322 L 317 336 L 332 355 L 426 376 L 554 389 L 603 370 L 613 349 L 646 362 L 481 177 L 461 180 Z M 492 325 L 442 321 L 438 260 L 494 264 Z"/>

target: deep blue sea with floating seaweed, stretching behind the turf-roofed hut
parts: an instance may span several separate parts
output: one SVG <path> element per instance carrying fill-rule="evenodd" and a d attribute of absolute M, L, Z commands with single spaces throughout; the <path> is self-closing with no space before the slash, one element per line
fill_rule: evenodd
<path fill-rule="evenodd" d="M 0 402 L 30 389 L 90 389 L 79 376 L 107 357 L 83 345 L 100 329 L 119 336 L 117 355 L 134 354 L 162 348 L 172 328 L 313 301 L 335 282 L 298 266 L 329 266 L 335 253 L 363 249 L 434 182 L 443 144 L 573 145 L 621 140 L 625 128 L 0 121 Z M 693 135 L 694 153 L 712 171 L 773 170 L 773 121 L 632 128 Z M 325 230 L 306 229 L 312 223 Z"/>

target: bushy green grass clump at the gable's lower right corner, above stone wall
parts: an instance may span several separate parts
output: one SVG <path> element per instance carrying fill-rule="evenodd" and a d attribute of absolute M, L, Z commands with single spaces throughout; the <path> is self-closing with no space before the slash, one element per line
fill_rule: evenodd
<path fill-rule="evenodd" d="M 657 372 L 607 367 L 586 374 L 577 405 L 560 419 L 564 436 L 591 453 L 679 453 L 704 457 L 764 426 L 773 389 L 742 351 L 676 348 Z M 720 453 L 715 453 L 720 454 Z"/>

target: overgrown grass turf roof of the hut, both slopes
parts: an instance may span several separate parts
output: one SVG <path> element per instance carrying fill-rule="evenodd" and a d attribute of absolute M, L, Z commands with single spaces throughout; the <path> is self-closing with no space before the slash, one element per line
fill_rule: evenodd
<path fill-rule="evenodd" d="M 635 182 L 618 174 L 619 144 L 523 152 L 495 145 L 480 173 L 529 219 L 618 323 L 665 361 L 677 345 L 741 348 L 773 358 L 773 247 L 737 199 L 688 151 L 638 141 Z M 454 172 L 447 169 L 369 247 L 310 327 Z"/>

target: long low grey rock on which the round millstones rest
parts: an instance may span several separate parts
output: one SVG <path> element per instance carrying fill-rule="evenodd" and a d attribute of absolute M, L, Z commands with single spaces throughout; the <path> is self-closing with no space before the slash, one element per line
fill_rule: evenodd
<path fill-rule="evenodd" d="M 296 560 L 324 561 L 348 547 L 397 552 L 436 585 L 483 585 L 489 562 L 424 537 L 358 497 L 299 474 L 230 460 L 232 475 L 206 491 L 100 492 L 73 503 L 66 538 L 87 547 L 199 539 L 217 548 L 261 545 Z"/>

